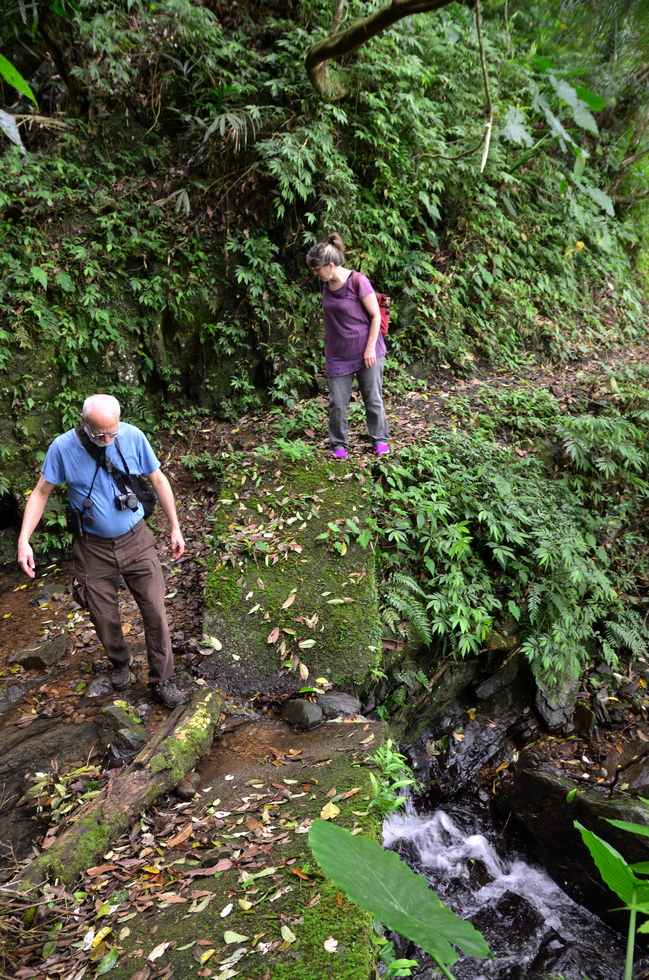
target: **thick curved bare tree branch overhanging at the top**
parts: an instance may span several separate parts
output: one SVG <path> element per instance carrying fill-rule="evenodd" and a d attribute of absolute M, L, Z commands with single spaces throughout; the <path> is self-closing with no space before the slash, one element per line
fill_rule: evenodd
<path fill-rule="evenodd" d="M 340 98 L 338 87 L 336 86 L 334 91 L 329 79 L 326 68 L 328 61 L 332 58 L 342 58 L 343 55 L 355 51 L 370 38 L 376 37 L 381 31 L 403 20 L 404 17 L 440 10 L 452 2 L 453 0 L 391 0 L 368 17 L 355 21 L 346 30 L 323 37 L 309 48 L 304 59 L 309 81 L 323 98 Z"/>

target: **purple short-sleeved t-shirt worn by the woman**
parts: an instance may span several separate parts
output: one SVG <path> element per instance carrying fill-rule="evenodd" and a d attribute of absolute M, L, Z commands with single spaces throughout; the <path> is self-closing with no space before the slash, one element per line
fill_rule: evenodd
<path fill-rule="evenodd" d="M 325 282 L 322 289 L 322 312 L 325 322 L 325 374 L 339 378 L 353 374 L 365 367 L 363 354 L 370 335 L 371 317 L 361 300 L 373 293 L 372 283 L 360 273 L 356 286 L 352 276 L 339 289 L 330 289 Z M 376 340 L 376 356 L 385 354 L 385 341 L 379 331 Z"/>

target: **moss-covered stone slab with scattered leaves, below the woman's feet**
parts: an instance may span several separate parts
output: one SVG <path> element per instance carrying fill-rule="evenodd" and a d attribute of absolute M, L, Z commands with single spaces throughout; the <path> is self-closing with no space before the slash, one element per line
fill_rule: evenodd
<path fill-rule="evenodd" d="M 350 689 L 378 663 L 374 556 L 346 525 L 365 525 L 367 479 L 339 461 L 263 461 L 226 474 L 204 620 L 221 649 L 204 670 L 228 693 L 288 693 L 322 677 Z"/>

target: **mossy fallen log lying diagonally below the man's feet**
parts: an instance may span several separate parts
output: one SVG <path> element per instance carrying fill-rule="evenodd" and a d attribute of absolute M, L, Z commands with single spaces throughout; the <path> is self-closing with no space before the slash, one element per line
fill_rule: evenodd
<path fill-rule="evenodd" d="M 60 837 L 10 884 L 28 891 L 48 876 L 65 884 L 90 868 L 133 821 L 162 794 L 177 786 L 210 748 L 223 707 L 215 691 L 199 691 L 176 708 L 126 769 L 99 796 L 72 816 Z"/>

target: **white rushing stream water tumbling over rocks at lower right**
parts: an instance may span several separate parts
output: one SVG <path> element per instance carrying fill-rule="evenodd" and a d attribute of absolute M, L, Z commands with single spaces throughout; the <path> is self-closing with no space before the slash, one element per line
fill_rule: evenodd
<path fill-rule="evenodd" d="M 480 809 L 478 809 L 480 808 Z M 572 901 L 548 875 L 507 853 L 479 801 L 403 815 L 383 825 L 384 844 L 423 874 L 441 901 L 482 932 L 497 957 L 460 956 L 456 980 L 620 980 L 625 940 Z M 611 894 L 611 906 L 619 902 Z M 395 955 L 417 960 L 415 980 L 435 976 L 428 954 L 391 935 Z M 640 972 L 634 977 L 646 977 Z"/>

